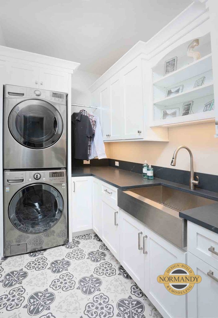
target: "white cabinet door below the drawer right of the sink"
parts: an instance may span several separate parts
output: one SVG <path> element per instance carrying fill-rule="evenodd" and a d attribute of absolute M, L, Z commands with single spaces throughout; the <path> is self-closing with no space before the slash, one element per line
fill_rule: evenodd
<path fill-rule="evenodd" d="M 202 278 L 188 293 L 188 317 L 218 317 L 218 270 L 190 252 L 187 264 Z"/>

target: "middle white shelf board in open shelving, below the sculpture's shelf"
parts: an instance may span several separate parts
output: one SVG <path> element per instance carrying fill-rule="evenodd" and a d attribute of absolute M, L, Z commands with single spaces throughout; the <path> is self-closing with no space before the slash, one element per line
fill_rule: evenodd
<path fill-rule="evenodd" d="M 202 85 L 202 86 L 193 88 L 190 91 L 176 94 L 170 97 L 166 97 L 161 100 L 154 100 L 154 105 L 167 107 L 167 106 L 176 105 L 188 100 L 193 100 L 203 96 L 211 95 L 213 93 L 214 93 L 214 86 L 213 86 L 213 83 L 210 83 L 208 85 Z"/>

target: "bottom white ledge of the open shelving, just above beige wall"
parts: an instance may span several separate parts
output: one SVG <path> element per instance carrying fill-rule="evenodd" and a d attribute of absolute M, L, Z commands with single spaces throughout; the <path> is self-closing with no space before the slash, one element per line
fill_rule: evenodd
<path fill-rule="evenodd" d="M 201 112 L 196 114 L 189 114 L 185 116 L 178 116 L 175 118 L 169 119 L 159 119 L 157 121 L 153 121 L 150 127 L 158 127 L 158 126 L 173 126 L 173 125 L 190 125 L 190 124 L 200 124 L 205 121 L 215 121 L 215 111 L 211 110 L 208 112 Z"/>

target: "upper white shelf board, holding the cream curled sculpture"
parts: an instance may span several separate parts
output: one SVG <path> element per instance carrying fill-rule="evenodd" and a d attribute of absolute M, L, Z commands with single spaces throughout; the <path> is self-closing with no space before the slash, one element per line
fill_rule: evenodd
<path fill-rule="evenodd" d="M 161 77 L 153 82 L 153 85 L 160 87 L 176 86 L 176 83 L 182 82 L 190 77 L 194 77 L 198 74 L 202 74 L 212 70 L 212 54 L 204 56 L 191 64 L 183 66 L 182 68 L 172 72 L 168 75 Z M 191 75 L 191 76 L 190 76 Z"/>

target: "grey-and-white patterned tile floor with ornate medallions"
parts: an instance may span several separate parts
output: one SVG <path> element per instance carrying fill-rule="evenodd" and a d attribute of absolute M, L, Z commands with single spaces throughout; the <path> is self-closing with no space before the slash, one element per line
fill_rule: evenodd
<path fill-rule="evenodd" d="M 162 317 L 97 234 L 0 262 L 0 317 Z"/>

